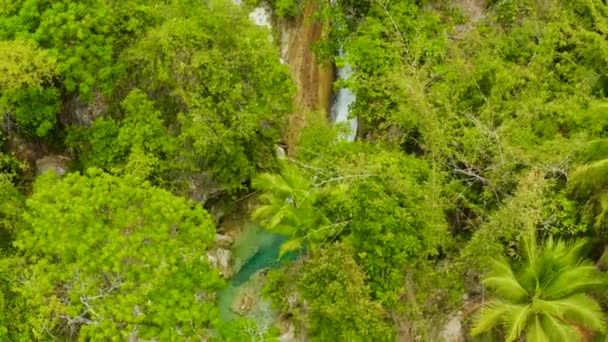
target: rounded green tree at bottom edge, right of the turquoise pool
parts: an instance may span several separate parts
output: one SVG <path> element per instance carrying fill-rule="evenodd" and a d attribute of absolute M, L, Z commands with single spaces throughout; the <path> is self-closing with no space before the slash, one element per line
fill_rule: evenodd
<path fill-rule="evenodd" d="M 353 253 L 352 247 L 338 243 L 287 274 L 272 271 L 264 294 L 314 340 L 392 341 L 395 331 L 388 314 L 371 298 Z"/>

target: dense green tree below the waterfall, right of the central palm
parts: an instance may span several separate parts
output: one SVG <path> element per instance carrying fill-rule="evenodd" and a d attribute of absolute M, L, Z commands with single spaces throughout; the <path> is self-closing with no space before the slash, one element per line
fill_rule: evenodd
<path fill-rule="evenodd" d="M 402 269 L 437 254 L 446 238 L 434 177 L 413 157 L 377 152 L 361 154 L 350 167 L 354 177 L 341 200 L 350 221 L 349 241 L 369 276 L 373 295 L 394 305 L 403 287 Z M 357 175 L 355 173 L 355 175 Z"/>

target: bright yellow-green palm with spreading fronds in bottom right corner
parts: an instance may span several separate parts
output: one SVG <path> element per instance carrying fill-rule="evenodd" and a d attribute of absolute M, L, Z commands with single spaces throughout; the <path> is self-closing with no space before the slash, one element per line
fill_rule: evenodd
<path fill-rule="evenodd" d="M 581 258 L 585 240 L 572 243 L 550 237 L 542 249 L 525 239 L 524 262 L 515 271 L 506 259 L 494 262 L 484 283 L 496 298 L 477 316 L 473 335 L 504 328 L 506 341 L 581 341 L 585 333 L 604 332 L 599 304 L 586 294 L 603 287 L 604 275 Z"/>

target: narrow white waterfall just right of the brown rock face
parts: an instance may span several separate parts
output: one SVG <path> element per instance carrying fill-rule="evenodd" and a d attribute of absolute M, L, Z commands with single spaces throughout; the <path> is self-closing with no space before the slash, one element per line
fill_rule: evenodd
<path fill-rule="evenodd" d="M 340 49 L 340 57 L 344 57 L 342 49 Z M 338 69 L 338 78 L 346 80 L 353 74 L 348 62 L 344 64 L 344 67 Z M 348 122 L 350 131 L 342 134 L 342 138 L 346 141 L 355 141 L 357 138 L 357 127 L 359 125 L 357 118 L 349 118 L 350 105 L 355 102 L 357 97 L 348 88 L 341 88 L 335 96 L 334 104 L 331 107 L 331 116 L 334 124 Z"/>

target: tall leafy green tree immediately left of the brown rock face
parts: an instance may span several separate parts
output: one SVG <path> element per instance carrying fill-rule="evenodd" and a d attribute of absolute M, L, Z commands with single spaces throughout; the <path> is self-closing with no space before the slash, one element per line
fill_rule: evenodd
<path fill-rule="evenodd" d="M 232 5 L 189 3 L 187 13 L 171 15 L 125 62 L 168 123 L 179 125 L 184 158 L 239 188 L 273 165 L 293 91 L 288 69 L 267 32 Z"/>

